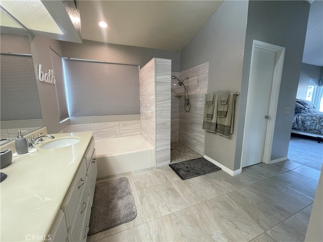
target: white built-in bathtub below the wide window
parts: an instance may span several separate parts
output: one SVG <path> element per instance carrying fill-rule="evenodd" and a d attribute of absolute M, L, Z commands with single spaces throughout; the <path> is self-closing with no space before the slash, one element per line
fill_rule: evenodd
<path fill-rule="evenodd" d="M 97 178 L 154 166 L 153 148 L 141 136 L 95 140 Z"/>

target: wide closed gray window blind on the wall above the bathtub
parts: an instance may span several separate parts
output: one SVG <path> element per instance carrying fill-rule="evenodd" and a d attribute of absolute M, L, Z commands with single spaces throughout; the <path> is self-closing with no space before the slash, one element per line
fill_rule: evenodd
<path fill-rule="evenodd" d="M 71 117 L 139 114 L 139 66 L 64 58 Z"/>

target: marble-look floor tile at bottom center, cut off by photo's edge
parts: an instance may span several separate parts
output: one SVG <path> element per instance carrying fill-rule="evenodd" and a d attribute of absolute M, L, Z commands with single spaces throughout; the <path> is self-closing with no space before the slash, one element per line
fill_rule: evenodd
<path fill-rule="evenodd" d="M 147 222 L 152 241 L 213 241 L 189 208 Z"/>

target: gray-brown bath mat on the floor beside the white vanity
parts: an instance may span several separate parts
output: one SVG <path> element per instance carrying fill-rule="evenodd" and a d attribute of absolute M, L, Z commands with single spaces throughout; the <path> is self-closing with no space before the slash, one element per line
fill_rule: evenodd
<path fill-rule="evenodd" d="M 128 178 L 101 181 L 95 185 L 88 235 L 130 222 L 136 216 L 137 208 Z"/>

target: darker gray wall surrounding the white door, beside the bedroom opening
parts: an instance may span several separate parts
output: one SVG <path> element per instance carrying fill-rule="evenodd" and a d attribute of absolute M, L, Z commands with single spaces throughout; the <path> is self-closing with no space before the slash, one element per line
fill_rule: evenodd
<path fill-rule="evenodd" d="M 243 117 L 254 39 L 286 47 L 271 160 L 287 157 L 293 112 L 285 114 L 285 108 L 295 107 L 309 7 L 306 1 L 249 2 L 235 168 L 240 166 L 241 160 Z"/>

